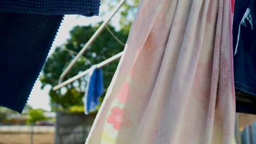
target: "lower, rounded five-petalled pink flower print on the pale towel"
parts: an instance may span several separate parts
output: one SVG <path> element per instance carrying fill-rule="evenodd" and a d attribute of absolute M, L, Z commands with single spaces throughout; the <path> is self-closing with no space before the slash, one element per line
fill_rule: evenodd
<path fill-rule="evenodd" d="M 119 130 L 121 126 L 129 127 L 131 125 L 130 114 L 115 106 L 107 118 L 107 123 L 112 124 L 115 130 Z"/>

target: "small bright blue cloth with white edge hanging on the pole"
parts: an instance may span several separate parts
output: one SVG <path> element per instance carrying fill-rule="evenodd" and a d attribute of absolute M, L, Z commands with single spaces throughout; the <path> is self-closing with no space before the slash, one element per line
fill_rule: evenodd
<path fill-rule="evenodd" d="M 93 65 L 88 75 L 84 94 L 84 112 L 86 115 L 91 110 L 96 109 L 96 106 L 100 104 L 98 98 L 104 93 L 102 70 Z"/>

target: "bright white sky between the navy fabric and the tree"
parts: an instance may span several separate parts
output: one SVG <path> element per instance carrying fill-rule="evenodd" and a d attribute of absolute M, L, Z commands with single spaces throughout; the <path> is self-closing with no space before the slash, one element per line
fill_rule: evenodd
<path fill-rule="evenodd" d="M 104 7 L 104 5 L 101 6 L 101 10 L 107 9 Z M 109 11 L 110 12 L 110 11 Z M 111 13 L 111 12 L 110 12 Z M 70 37 L 69 31 L 74 26 L 86 26 L 86 25 L 94 25 L 100 21 L 106 20 L 107 17 L 110 16 L 110 13 L 105 14 L 102 18 L 100 16 L 93 16 L 93 17 L 85 17 L 85 16 L 78 16 L 78 15 L 66 15 L 64 17 L 64 20 L 61 23 L 61 26 L 59 28 L 59 32 L 57 33 L 54 43 L 51 47 L 51 50 L 49 52 L 49 55 L 54 52 L 54 49 L 56 46 L 59 46 L 63 43 L 65 43 L 66 39 Z M 112 18 L 112 25 L 118 26 L 118 20 L 120 19 L 120 15 L 116 14 Z M 100 37 L 100 36 L 99 36 Z M 36 83 L 34 84 L 34 87 L 32 89 L 32 92 L 30 94 L 30 97 L 28 98 L 28 105 L 31 105 L 33 109 L 44 109 L 47 111 L 51 110 L 50 107 L 50 97 L 48 95 L 48 92 L 50 91 L 50 86 L 46 86 L 44 89 L 40 89 L 42 86 L 42 83 L 37 79 Z M 82 99 L 81 99 L 82 100 Z"/>

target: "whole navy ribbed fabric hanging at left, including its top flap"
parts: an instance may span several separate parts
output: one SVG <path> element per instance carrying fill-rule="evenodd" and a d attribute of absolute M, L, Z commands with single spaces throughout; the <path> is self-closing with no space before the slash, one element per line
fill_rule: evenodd
<path fill-rule="evenodd" d="M 0 1 L 0 105 L 22 112 L 64 14 L 98 15 L 99 0 Z"/>

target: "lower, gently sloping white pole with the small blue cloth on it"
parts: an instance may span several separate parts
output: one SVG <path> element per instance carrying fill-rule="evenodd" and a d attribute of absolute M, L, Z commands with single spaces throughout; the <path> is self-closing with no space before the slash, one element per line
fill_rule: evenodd
<path fill-rule="evenodd" d="M 110 58 L 106 59 L 105 61 L 103 61 L 103 62 L 97 64 L 97 65 L 96 65 L 96 68 L 102 68 L 104 65 L 107 65 L 107 64 L 109 64 L 109 63 L 111 63 L 111 62 L 117 60 L 117 59 L 120 58 L 122 55 L 123 55 L 123 52 L 120 52 L 120 53 L 118 53 L 117 55 L 114 55 L 113 57 L 110 57 Z M 85 70 L 83 73 L 80 73 L 80 74 L 78 74 L 78 75 L 72 77 L 71 79 L 68 79 L 68 80 L 66 80 L 66 81 L 64 81 L 64 82 L 62 82 L 62 83 L 60 83 L 59 85 L 55 86 L 55 87 L 53 88 L 53 90 L 56 91 L 57 89 L 60 89 L 61 87 L 68 85 L 68 83 L 71 83 L 71 82 L 73 82 L 73 81 L 79 79 L 80 77 L 82 77 L 82 76 L 88 74 L 89 72 L 90 72 L 90 69 Z"/>

